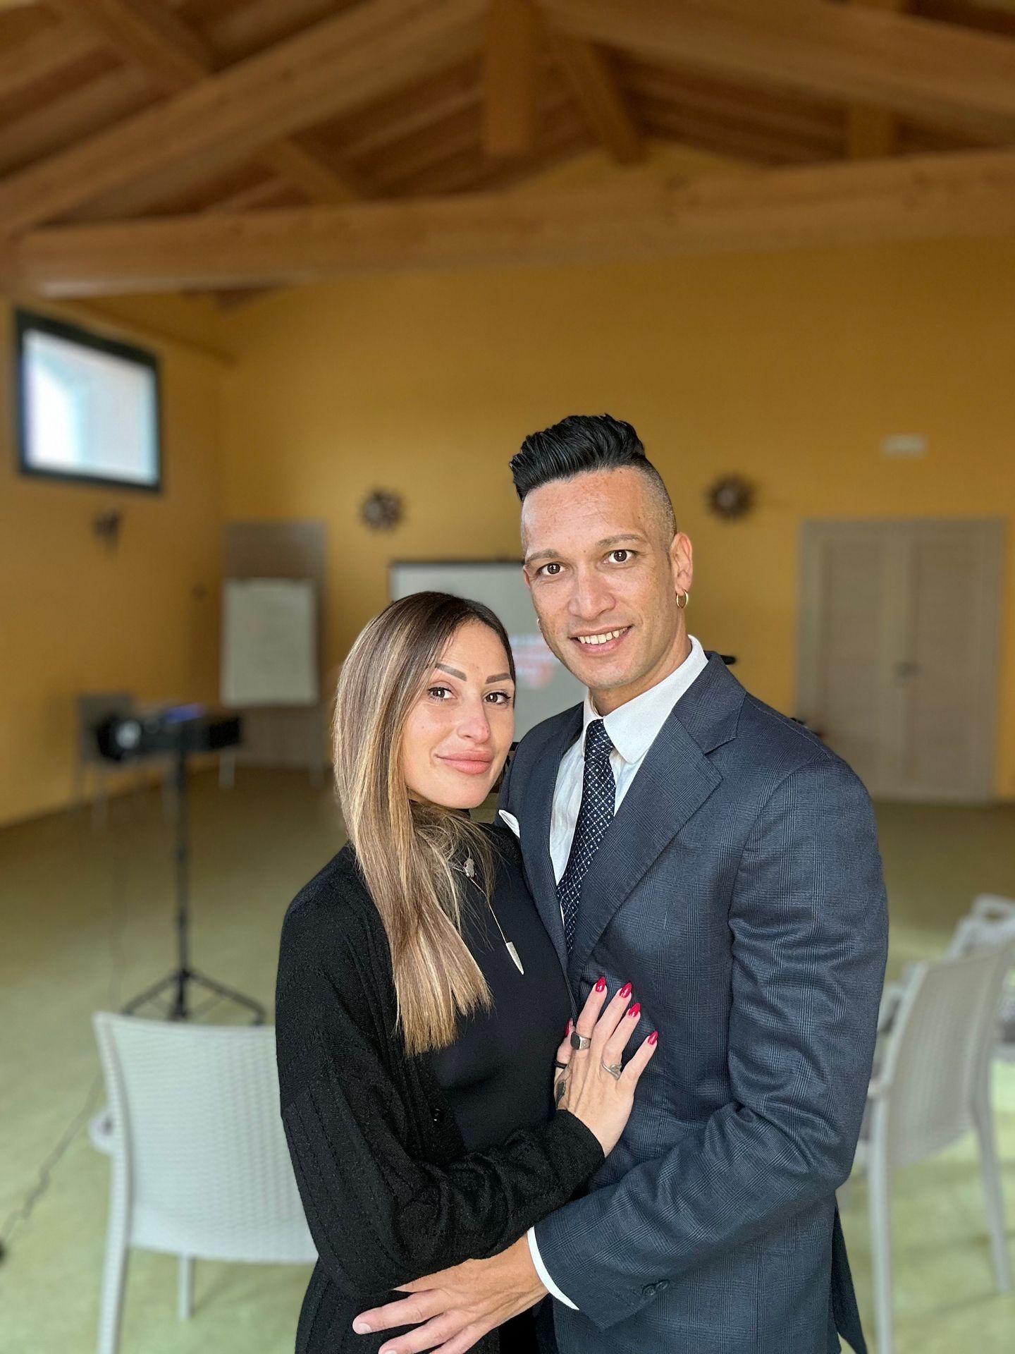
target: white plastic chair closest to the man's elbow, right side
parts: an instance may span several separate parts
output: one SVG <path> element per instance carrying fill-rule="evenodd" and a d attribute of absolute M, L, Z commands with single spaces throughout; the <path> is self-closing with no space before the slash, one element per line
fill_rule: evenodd
<path fill-rule="evenodd" d="M 869 1113 L 857 1166 L 869 1179 L 874 1315 L 880 1354 L 893 1354 L 890 1173 L 922 1162 L 974 1131 L 987 1194 L 995 1280 L 1011 1290 L 1004 1200 L 991 1108 L 991 1053 L 1004 975 L 1015 946 L 916 964 L 899 1002 L 880 1070 L 867 1091 Z"/>

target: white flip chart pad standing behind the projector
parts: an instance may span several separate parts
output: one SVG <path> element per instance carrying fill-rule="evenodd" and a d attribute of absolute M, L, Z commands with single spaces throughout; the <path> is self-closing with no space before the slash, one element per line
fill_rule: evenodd
<path fill-rule="evenodd" d="M 221 688 L 226 705 L 317 704 L 317 594 L 309 578 L 226 581 Z"/>

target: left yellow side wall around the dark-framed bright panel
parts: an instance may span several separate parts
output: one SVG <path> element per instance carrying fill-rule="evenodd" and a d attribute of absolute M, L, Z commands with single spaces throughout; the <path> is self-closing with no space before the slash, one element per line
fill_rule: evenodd
<path fill-rule="evenodd" d="M 137 328 L 145 313 L 169 341 Z M 162 360 L 158 496 L 18 474 L 11 305 L 0 297 L 0 822 L 69 802 L 76 692 L 200 700 L 218 689 L 222 362 L 185 307 L 111 305 L 104 314 L 118 317 L 106 332 Z M 93 516 L 111 506 L 125 513 L 115 555 L 92 535 Z"/>

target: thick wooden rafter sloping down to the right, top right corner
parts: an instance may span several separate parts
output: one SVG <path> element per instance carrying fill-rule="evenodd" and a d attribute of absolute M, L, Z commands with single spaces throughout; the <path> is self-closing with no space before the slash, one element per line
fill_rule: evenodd
<path fill-rule="evenodd" d="M 594 42 L 830 97 L 1015 131 L 1015 42 L 819 0 L 535 0 Z"/>

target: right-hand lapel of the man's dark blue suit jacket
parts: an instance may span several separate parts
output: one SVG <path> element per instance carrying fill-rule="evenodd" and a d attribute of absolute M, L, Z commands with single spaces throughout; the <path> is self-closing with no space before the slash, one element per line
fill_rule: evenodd
<path fill-rule="evenodd" d="M 712 654 L 646 753 L 585 876 L 567 964 L 572 990 L 613 914 L 721 783 L 708 753 L 736 735 L 743 697 L 743 686 Z"/>

